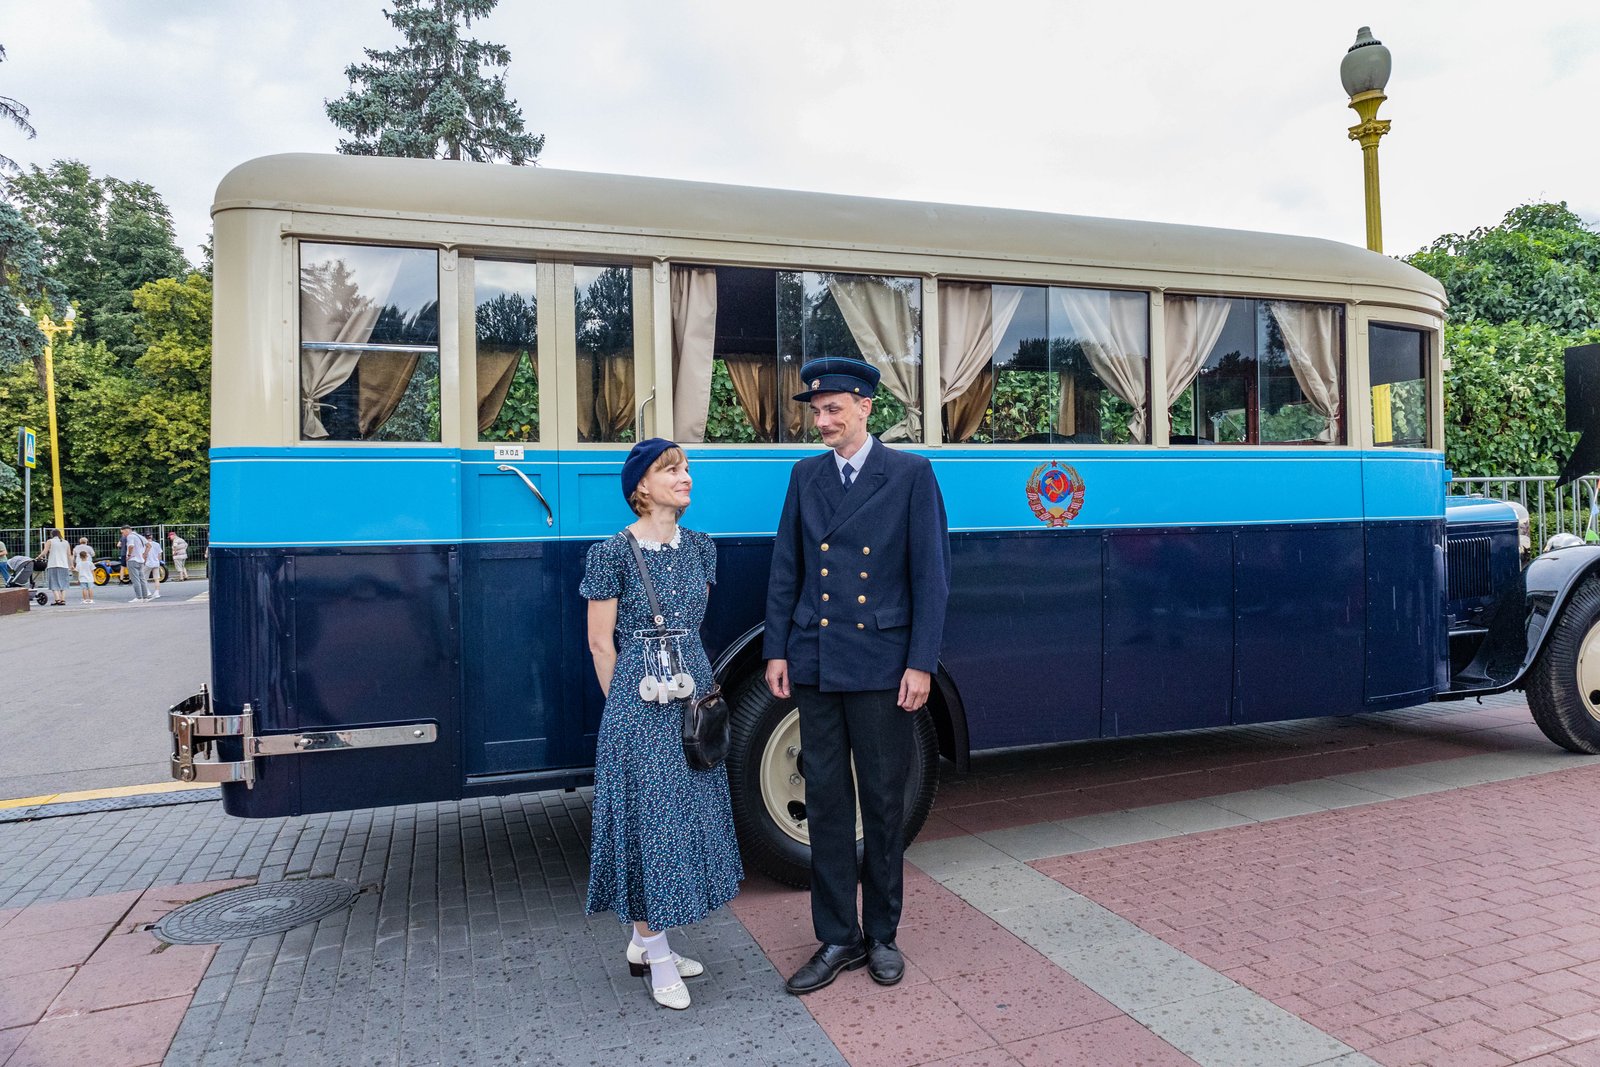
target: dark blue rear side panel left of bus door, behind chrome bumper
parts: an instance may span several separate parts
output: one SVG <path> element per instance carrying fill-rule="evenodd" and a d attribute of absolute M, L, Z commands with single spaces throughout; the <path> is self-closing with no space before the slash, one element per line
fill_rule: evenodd
<path fill-rule="evenodd" d="M 286 592 L 293 645 L 290 704 L 258 723 L 261 733 L 344 729 L 430 721 L 438 741 L 419 745 L 275 755 L 258 771 L 294 763 L 299 790 L 272 811 L 230 800 L 234 814 L 304 814 L 461 795 L 459 569 L 454 547 L 301 549 Z M 283 597 L 272 590 L 274 597 Z M 213 590 L 213 597 L 216 597 Z M 251 600 L 234 601 L 251 611 Z M 221 675 L 219 675 L 221 677 Z M 238 785 L 224 792 L 248 793 Z M 261 806 L 266 806 L 264 803 Z"/>

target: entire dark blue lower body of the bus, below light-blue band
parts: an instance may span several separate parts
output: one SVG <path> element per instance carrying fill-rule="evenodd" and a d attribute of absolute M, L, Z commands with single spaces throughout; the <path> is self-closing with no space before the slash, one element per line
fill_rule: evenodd
<path fill-rule="evenodd" d="M 262 733 L 438 726 L 426 745 L 262 758 L 227 809 L 586 781 L 603 705 L 587 547 L 213 549 L 219 710 L 251 704 Z M 760 624 L 771 560 L 766 537 L 717 547 L 712 659 Z M 1346 715 L 1448 675 L 1442 522 L 957 534 L 952 568 L 942 664 L 974 750 Z"/>

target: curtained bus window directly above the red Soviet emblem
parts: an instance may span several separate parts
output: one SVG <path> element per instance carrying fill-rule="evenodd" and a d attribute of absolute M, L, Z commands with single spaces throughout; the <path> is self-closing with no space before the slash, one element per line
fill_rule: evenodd
<path fill-rule="evenodd" d="M 944 438 L 1142 443 L 1146 293 L 939 285 Z"/>

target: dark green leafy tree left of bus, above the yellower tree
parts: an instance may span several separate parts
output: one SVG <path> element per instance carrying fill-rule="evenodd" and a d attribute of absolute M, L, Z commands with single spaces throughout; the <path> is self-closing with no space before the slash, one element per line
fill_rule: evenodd
<path fill-rule="evenodd" d="M 96 178 L 77 160 L 34 166 L 6 190 L 38 230 L 46 272 L 78 309 L 78 336 L 133 365 L 144 350 L 134 290 L 189 269 L 162 197 L 146 182 Z"/>

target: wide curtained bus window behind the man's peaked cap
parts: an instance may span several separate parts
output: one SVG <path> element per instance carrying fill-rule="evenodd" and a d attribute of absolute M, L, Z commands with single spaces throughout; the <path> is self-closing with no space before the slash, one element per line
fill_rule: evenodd
<path fill-rule="evenodd" d="M 922 440 L 922 280 L 750 267 L 672 269 L 674 432 L 682 442 L 814 440 L 800 365 L 869 360 L 867 426 Z"/>

